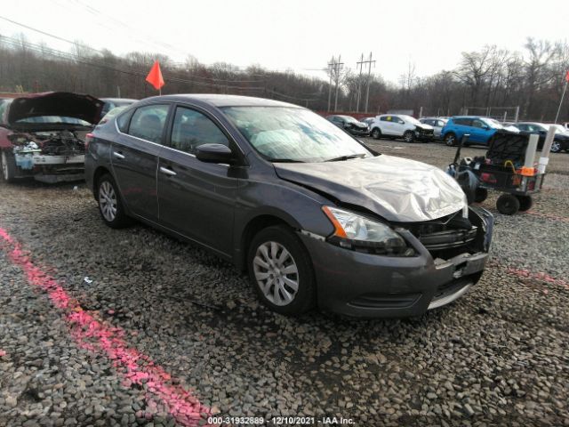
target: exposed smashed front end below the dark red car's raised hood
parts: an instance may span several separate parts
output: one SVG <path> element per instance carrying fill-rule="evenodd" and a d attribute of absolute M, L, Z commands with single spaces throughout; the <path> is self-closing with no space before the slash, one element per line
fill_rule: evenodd
<path fill-rule="evenodd" d="M 47 183 L 84 179 L 86 131 L 12 133 L 12 152 L 19 177 Z"/>

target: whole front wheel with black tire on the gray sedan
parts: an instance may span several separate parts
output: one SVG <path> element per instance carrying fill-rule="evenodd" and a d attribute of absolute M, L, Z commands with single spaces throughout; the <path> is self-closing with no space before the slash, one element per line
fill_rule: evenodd
<path fill-rule="evenodd" d="M 316 280 L 309 253 L 287 226 L 268 227 L 252 238 L 247 270 L 253 289 L 270 310 L 294 316 L 316 305 Z"/>

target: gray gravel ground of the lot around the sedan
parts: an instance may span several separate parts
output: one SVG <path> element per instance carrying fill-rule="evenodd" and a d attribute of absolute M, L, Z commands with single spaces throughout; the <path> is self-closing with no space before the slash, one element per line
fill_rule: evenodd
<path fill-rule="evenodd" d="M 454 153 L 367 141 L 440 167 Z M 485 201 L 493 262 L 467 296 L 422 318 L 276 315 L 227 262 L 142 225 L 108 229 L 83 184 L 0 184 L 0 228 L 63 286 L 71 311 L 120 332 L 213 413 L 569 425 L 569 155 L 552 156 L 530 213 Z M 148 383 L 125 379 L 121 355 L 85 345 L 11 250 L 0 245 L 0 425 L 188 425 Z"/>

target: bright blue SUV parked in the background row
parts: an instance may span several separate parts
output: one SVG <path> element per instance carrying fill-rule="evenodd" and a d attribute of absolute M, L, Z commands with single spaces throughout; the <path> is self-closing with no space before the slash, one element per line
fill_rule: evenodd
<path fill-rule="evenodd" d="M 451 117 L 441 130 L 441 137 L 449 147 L 456 145 L 462 135 L 469 133 L 470 144 L 488 145 L 488 141 L 497 130 L 504 129 L 493 118 L 478 116 L 455 116 Z"/>

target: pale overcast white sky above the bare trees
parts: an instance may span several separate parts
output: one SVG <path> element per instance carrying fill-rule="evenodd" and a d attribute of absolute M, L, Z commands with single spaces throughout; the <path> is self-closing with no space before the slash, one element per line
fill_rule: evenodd
<path fill-rule="evenodd" d="M 425 77 L 456 68 L 461 52 L 496 44 L 522 50 L 527 36 L 569 38 L 567 1 L 414 0 L 20 0 L 3 2 L 0 17 L 115 54 L 188 55 L 204 64 L 228 62 L 327 78 L 370 52 L 373 74 L 397 84 L 413 64 Z M 539 4 L 536 5 L 536 4 Z M 71 45 L 0 19 L 0 35 L 69 51 Z"/>

